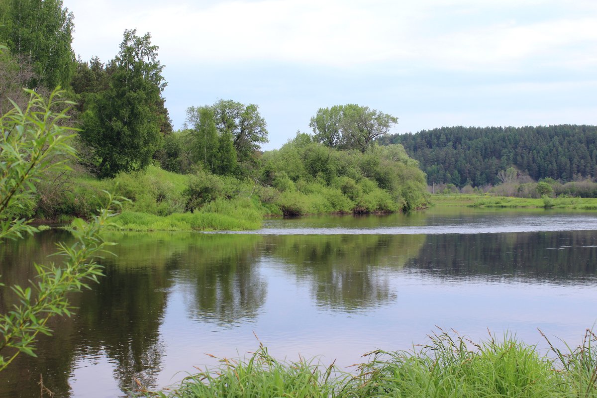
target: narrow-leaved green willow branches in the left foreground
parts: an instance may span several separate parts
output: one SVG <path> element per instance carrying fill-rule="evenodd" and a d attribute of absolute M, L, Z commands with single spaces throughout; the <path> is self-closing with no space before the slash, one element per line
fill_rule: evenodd
<path fill-rule="evenodd" d="M 14 107 L 0 119 L 0 244 L 5 239 L 17 239 L 32 234 L 37 229 L 30 220 L 18 218 L 35 196 L 33 183 L 44 173 L 64 169 L 60 155 L 73 155 L 67 144 L 72 129 L 63 127 L 67 109 L 54 112 L 54 107 L 69 103 L 61 100 L 60 91 L 54 91 L 48 101 L 29 90 L 29 103 L 25 109 Z M 10 286 L 17 303 L 7 313 L 0 314 L 0 371 L 20 354 L 35 356 L 35 338 L 39 333 L 51 334 L 48 320 L 54 316 L 70 316 L 72 307 L 67 294 L 88 288 L 88 282 L 97 282 L 101 267 L 93 260 L 104 252 L 110 243 L 100 237 L 100 231 L 109 224 L 111 209 L 120 202 L 109 195 L 106 206 L 99 210 L 91 223 L 79 221 L 73 231 L 75 243 L 59 243 L 57 255 L 64 258 L 62 266 L 51 263 L 35 264 L 36 279 L 32 286 Z M 2 289 L 4 285 L 0 283 Z M 2 292 L 0 292 L 2 293 Z"/>

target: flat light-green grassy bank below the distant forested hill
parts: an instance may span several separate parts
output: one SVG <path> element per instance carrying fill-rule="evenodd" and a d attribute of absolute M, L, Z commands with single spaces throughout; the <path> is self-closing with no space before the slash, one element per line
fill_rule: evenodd
<path fill-rule="evenodd" d="M 479 208 L 555 208 L 597 210 L 597 198 L 512 198 L 473 194 L 436 194 L 430 202 L 435 206 L 467 206 Z"/>

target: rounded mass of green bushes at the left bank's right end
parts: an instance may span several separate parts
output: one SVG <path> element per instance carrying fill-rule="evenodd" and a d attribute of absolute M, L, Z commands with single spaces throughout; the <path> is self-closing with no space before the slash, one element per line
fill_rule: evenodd
<path fill-rule="evenodd" d="M 261 181 L 281 192 L 273 202 L 287 215 L 393 212 L 426 201 L 424 174 L 400 145 L 338 151 L 297 134 L 262 162 Z"/>

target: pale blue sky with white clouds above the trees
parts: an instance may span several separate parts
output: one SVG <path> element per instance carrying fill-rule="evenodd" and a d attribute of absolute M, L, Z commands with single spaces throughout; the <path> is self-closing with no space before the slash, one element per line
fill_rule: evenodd
<path fill-rule="evenodd" d="M 597 124 L 595 0 L 64 0 L 73 49 L 108 61 L 150 32 L 175 129 L 187 107 L 257 104 L 269 143 L 319 108 L 444 126 Z"/>

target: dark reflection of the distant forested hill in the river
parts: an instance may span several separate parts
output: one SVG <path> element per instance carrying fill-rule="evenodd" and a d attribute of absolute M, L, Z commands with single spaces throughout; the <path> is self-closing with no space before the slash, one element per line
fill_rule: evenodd
<path fill-rule="evenodd" d="M 412 269 L 429 276 L 518 276 L 552 282 L 597 276 L 595 232 L 429 235 Z"/>

